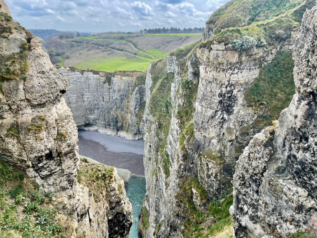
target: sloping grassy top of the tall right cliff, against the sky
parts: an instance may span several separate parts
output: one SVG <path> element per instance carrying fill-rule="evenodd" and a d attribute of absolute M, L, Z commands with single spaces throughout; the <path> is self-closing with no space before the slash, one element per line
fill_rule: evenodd
<path fill-rule="evenodd" d="M 206 24 L 213 25 L 212 41 L 218 43 L 229 44 L 251 36 L 273 44 L 277 31 L 290 33 L 314 4 L 314 0 L 231 0 L 216 10 Z"/>

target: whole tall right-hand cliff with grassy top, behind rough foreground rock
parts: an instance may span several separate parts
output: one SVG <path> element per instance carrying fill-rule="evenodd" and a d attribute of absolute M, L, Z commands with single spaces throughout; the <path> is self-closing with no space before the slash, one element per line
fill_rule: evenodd
<path fill-rule="evenodd" d="M 291 101 L 288 95 L 293 95 L 294 84 L 286 68 L 293 68 L 291 52 L 299 23 L 284 22 L 279 27 L 285 31 L 279 32 L 270 25 L 272 19 L 264 19 L 269 14 L 259 16 L 265 21 L 252 26 L 264 32 L 265 40 L 246 37 L 253 42 L 252 49 L 239 49 L 231 43 L 251 35 L 251 23 L 237 23 L 240 28 L 233 31 L 226 29 L 230 19 L 219 17 L 224 12 L 234 18 L 236 12 L 230 12 L 234 2 L 207 22 L 206 41 L 178 49 L 149 67 L 144 114 L 146 196 L 139 225 L 143 237 L 212 237 L 223 227 L 230 228 L 236 161 L 252 137 L 277 119 L 285 108 L 281 102 Z M 297 1 L 292 11 L 305 11 L 307 3 Z M 266 7 L 268 2 L 259 4 Z M 244 6 L 237 3 L 234 10 L 245 10 Z M 284 21 L 285 16 L 280 17 Z M 285 37 L 278 38 L 279 34 Z M 274 71 L 279 67 L 282 73 Z M 267 73 L 272 70 L 273 76 Z M 274 87 L 280 87 L 283 96 L 277 96 Z"/>

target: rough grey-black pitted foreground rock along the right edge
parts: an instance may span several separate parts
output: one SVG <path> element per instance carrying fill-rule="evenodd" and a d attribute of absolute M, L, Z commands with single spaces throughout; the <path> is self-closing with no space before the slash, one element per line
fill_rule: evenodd
<path fill-rule="evenodd" d="M 314 7 L 304 14 L 294 46 L 293 100 L 237 162 L 231 207 L 237 238 L 316 234 L 316 26 Z"/>

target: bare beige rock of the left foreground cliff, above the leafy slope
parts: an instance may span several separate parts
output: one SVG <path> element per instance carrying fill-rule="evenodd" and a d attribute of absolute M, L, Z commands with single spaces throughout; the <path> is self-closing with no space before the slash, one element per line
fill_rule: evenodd
<path fill-rule="evenodd" d="M 71 237 L 128 237 L 133 218 L 123 181 L 113 169 L 98 201 L 78 183 L 77 128 L 63 98 L 68 82 L 42 39 L 3 6 L 1 1 L 0 157 L 52 194 L 50 205 L 70 220 Z"/>

